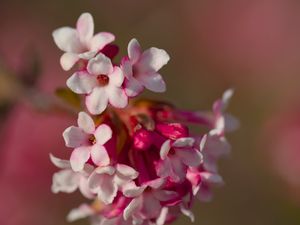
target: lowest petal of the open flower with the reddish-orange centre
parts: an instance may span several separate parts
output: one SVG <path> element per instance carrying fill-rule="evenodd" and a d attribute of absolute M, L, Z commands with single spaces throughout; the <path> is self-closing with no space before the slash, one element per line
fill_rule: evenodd
<path fill-rule="evenodd" d="M 85 99 L 89 112 L 93 115 L 101 114 L 107 107 L 108 97 L 104 88 L 96 87 Z"/>

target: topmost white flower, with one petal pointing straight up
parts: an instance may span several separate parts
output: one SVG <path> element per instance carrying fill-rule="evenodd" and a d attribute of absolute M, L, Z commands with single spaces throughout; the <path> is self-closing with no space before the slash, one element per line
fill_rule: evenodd
<path fill-rule="evenodd" d="M 94 35 L 94 20 L 89 13 L 81 14 L 76 29 L 61 27 L 53 31 L 52 36 L 55 44 L 65 52 L 60 58 L 64 70 L 70 70 L 79 59 L 94 57 L 115 40 L 115 36 L 108 32 Z"/>

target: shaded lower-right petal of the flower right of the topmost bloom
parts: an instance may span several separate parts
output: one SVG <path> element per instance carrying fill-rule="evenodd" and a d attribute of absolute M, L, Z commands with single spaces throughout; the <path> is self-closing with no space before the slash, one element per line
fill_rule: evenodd
<path fill-rule="evenodd" d="M 141 74 L 137 79 L 150 91 L 166 91 L 166 83 L 158 73 Z"/>

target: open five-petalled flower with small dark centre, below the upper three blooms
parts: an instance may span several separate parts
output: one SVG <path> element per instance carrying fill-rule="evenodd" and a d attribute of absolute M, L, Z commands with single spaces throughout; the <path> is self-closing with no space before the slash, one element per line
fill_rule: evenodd
<path fill-rule="evenodd" d="M 111 137 L 112 130 L 102 124 L 95 127 L 93 119 L 85 112 L 78 114 L 78 127 L 68 127 L 63 132 L 63 137 L 67 147 L 74 148 L 70 163 L 74 171 L 81 171 L 84 164 L 91 157 L 98 166 L 107 166 L 110 158 L 104 146 Z"/>

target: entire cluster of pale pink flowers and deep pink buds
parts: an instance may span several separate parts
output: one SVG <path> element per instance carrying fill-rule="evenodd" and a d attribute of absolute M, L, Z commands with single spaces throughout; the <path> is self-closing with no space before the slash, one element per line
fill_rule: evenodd
<path fill-rule="evenodd" d="M 217 160 L 228 154 L 225 132 L 236 120 L 225 114 L 232 90 L 217 100 L 211 112 L 191 112 L 171 104 L 132 100 L 144 89 L 164 92 L 158 71 L 169 55 L 158 48 L 142 51 L 138 41 L 128 44 L 120 65 L 113 59 L 118 47 L 111 33 L 94 35 L 93 18 L 82 14 L 76 29 L 53 32 L 65 53 L 61 66 L 77 71 L 67 86 L 85 99 L 86 112 L 76 126 L 63 132 L 69 160 L 50 155 L 61 170 L 52 191 L 79 190 L 89 203 L 73 209 L 67 219 L 89 217 L 93 225 L 163 225 L 184 214 L 193 221 L 195 200 L 209 201 L 211 187 L 222 184 Z M 193 134 L 188 125 L 203 127 Z"/>

